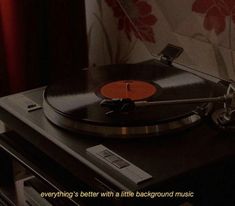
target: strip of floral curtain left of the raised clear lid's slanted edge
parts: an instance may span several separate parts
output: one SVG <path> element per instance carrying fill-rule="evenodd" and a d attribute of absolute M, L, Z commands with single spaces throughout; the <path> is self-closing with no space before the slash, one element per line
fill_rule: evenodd
<path fill-rule="evenodd" d="M 144 9 L 140 6 L 141 13 L 145 12 Z M 148 49 L 141 43 L 141 36 L 117 1 L 87 0 L 86 19 L 91 66 L 151 58 Z M 154 24 L 154 17 L 152 21 Z"/>

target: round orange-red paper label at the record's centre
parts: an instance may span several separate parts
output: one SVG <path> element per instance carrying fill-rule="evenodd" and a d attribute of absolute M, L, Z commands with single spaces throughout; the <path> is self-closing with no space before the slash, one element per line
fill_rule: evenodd
<path fill-rule="evenodd" d="M 100 89 L 102 96 L 109 99 L 142 100 L 156 93 L 156 87 L 148 82 L 137 80 L 121 80 L 105 84 Z"/>

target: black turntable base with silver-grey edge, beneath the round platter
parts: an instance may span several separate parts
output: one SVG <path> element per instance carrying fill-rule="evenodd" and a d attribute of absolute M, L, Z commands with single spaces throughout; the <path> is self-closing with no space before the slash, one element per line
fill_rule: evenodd
<path fill-rule="evenodd" d="M 74 181 L 69 181 L 69 185 L 63 183 L 63 179 L 57 179 L 57 186 L 60 185 L 59 188 L 62 191 L 68 187 L 73 188 L 71 182 L 75 183 L 76 180 L 97 191 L 112 189 L 113 191 L 149 190 L 156 192 L 168 191 L 169 188 L 183 191 L 187 188 L 197 195 L 197 198 L 190 200 L 184 198 L 178 200 L 181 204 L 190 201 L 203 205 L 206 199 L 209 203 L 216 201 L 223 205 L 225 201 L 223 197 L 234 197 L 234 194 L 231 195 L 234 191 L 232 188 L 235 186 L 233 167 L 235 139 L 232 131 L 219 132 L 206 118 L 201 124 L 191 129 L 167 135 L 164 138 L 135 139 L 134 141 L 133 139 L 101 140 L 60 129 L 48 121 L 42 109 L 28 112 L 25 107 L 18 104 L 18 99 L 23 95 L 36 104 L 42 105 L 43 90 L 44 88 L 39 88 L 0 99 L 1 119 L 14 131 L 14 135 L 10 137 L 1 137 L 0 144 L 1 148 L 10 155 L 34 170 L 36 176 L 46 179 L 50 184 L 55 185 L 55 176 L 51 172 L 51 179 L 48 180 L 49 173 L 43 172 L 43 169 L 51 168 L 51 166 L 48 162 L 44 162 L 45 158 L 40 158 L 40 156 L 45 155 L 51 163 L 59 164 L 63 170 L 58 169 L 56 173 L 64 175 L 65 170 L 66 175 L 69 174 L 69 177 L 74 179 Z M 98 144 L 103 144 L 125 160 L 135 164 L 152 178 L 135 184 L 125 176 L 114 172 L 107 165 L 100 164 L 86 151 L 87 148 Z M 38 161 L 39 159 L 41 160 Z M 30 160 L 34 160 L 34 164 Z M 38 169 L 36 173 L 35 168 Z M 80 189 L 77 188 L 77 190 Z M 130 205 L 132 201 L 135 200 L 123 200 L 121 203 L 117 201 L 115 204 Z M 151 203 L 155 205 L 156 201 L 156 199 L 151 199 L 148 205 Z M 163 201 L 164 205 L 174 205 L 172 202 L 167 204 L 165 199 Z M 138 199 L 135 203 L 141 205 L 142 201 Z M 213 205 L 209 203 L 207 205 Z"/>

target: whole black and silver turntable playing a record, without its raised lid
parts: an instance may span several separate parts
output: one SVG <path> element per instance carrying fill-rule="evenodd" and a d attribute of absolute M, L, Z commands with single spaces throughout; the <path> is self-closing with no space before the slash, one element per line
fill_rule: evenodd
<path fill-rule="evenodd" d="M 59 190 L 77 191 L 82 182 L 88 191 L 196 197 L 111 198 L 116 205 L 223 205 L 235 185 L 235 85 L 175 61 L 184 48 L 173 43 L 154 60 L 82 69 L 1 98 L 1 119 L 17 134 L 2 138 L 2 147 L 26 167 L 25 151 L 32 147 L 79 182 L 74 188 L 51 177 Z M 37 169 L 31 166 L 47 176 Z"/>

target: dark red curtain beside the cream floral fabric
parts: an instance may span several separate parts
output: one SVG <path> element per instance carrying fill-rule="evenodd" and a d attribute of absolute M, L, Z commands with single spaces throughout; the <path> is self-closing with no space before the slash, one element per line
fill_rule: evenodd
<path fill-rule="evenodd" d="M 77 0 L 0 1 L 0 95 L 87 66 L 85 8 Z"/>

